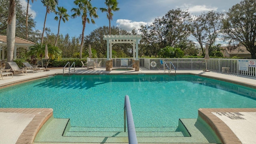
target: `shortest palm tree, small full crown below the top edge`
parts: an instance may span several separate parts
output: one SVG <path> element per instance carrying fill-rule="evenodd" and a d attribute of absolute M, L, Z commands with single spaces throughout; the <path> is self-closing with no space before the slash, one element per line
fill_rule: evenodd
<path fill-rule="evenodd" d="M 58 16 L 60 16 L 60 20 L 59 20 L 59 26 L 58 26 L 58 34 L 57 34 L 57 38 L 56 38 L 56 41 L 55 41 L 55 46 L 57 45 L 57 41 L 58 41 L 58 37 L 59 37 L 59 33 L 60 33 L 60 21 L 62 20 L 64 23 L 66 21 L 68 21 L 68 17 L 69 15 L 67 14 L 68 10 L 64 7 L 59 7 L 57 6 L 58 8 L 58 11 L 55 12 L 55 14 L 57 14 Z M 58 20 L 58 16 L 55 16 L 55 20 Z"/>

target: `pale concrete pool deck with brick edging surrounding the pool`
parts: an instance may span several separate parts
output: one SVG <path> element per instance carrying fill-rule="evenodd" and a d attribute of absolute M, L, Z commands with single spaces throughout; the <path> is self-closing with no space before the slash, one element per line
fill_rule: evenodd
<path fill-rule="evenodd" d="M 46 72 L 28 73 L 28 75 L 16 74 L 13 78 L 12 76 L 4 76 L 3 80 L 0 80 L 0 88 L 62 73 L 63 69 L 51 69 Z M 65 70 L 64 73 L 68 74 L 68 70 Z M 96 70 L 76 68 L 75 71 L 71 70 L 70 74 L 168 74 L 168 71 L 140 68 L 138 72 L 134 70 L 106 72 L 105 68 L 97 68 Z M 174 71 L 170 74 L 174 74 Z M 204 72 L 202 70 L 176 70 L 176 74 L 195 74 L 256 88 L 256 77 L 214 71 Z M 0 139 L 9 130 L 9 136 L 4 138 L 14 140 L 16 144 L 32 144 L 36 134 L 52 114 L 51 108 L 0 108 Z M 212 127 L 223 144 L 256 143 L 256 108 L 204 108 L 198 110 L 198 116 Z M 19 121 L 23 122 L 20 123 L 19 129 L 13 129 Z M 4 123 L 7 126 L 4 126 Z M 17 131 L 20 131 L 20 134 L 17 135 Z"/>

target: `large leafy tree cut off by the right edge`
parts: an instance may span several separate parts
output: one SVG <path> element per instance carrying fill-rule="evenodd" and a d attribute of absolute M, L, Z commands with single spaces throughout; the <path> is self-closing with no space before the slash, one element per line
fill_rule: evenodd
<path fill-rule="evenodd" d="M 226 40 L 240 43 L 256 59 L 256 1 L 242 0 L 235 4 L 226 13 L 227 18 L 223 20 L 222 32 Z"/>

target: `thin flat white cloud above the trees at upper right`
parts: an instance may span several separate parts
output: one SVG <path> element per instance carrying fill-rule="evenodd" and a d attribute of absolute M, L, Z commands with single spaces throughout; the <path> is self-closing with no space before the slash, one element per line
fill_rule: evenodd
<path fill-rule="evenodd" d="M 193 5 L 193 4 L 183 4 L 181 6 L 182 9 L 188 9 L 188 12 L 203 12 L 203 11 L 210 11 L 210 10 L 217 10 L 217 7 L 210 7 L 206 5 Z"/>

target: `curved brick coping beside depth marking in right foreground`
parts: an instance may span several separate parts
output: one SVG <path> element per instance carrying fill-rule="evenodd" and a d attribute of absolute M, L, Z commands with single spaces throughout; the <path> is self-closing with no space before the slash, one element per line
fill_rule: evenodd
<path fill-rule="evenodd" d="M 242 144 L 234 132 L 212 112 L 256 112 L 256 108 L 200 108 L 200 116 L 215 132 L 222 144 Z"/>

